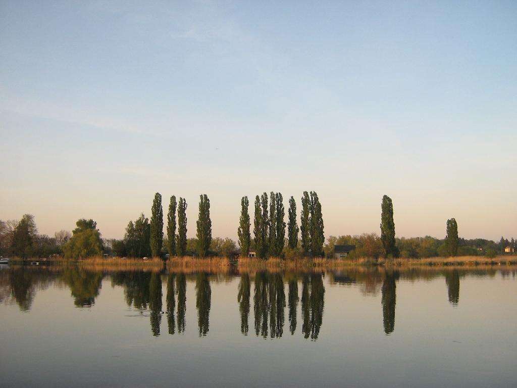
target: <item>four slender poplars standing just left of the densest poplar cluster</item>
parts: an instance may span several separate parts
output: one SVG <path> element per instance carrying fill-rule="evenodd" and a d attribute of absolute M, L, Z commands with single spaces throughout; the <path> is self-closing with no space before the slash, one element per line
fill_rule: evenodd
<path fill-rule="evenodd" d="M 178 232 L 176 233 L 176 227 Z M 150 220 L 151 255 L 160 256 L 163 245 L 163 209 L 160 193 L 155 194 Z M 197 220 L 197 253 L 201 257 L 208 255 L 212 242 L 212 221 L 210 220 L 210 200 L 206 194 L 200 195 L 199 218 Z M 187 253 L 187 201 L 172 196 L 167 213 L 166 248 L 171 256 L 185 256 Z"/>

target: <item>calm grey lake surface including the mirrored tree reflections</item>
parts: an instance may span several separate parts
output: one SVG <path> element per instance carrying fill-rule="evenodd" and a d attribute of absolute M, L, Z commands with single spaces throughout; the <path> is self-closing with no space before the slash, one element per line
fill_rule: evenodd
<path fill-rule="evenodd" d="M 515 271 L 0 268 L 0 385 L 517 386 Z"/>

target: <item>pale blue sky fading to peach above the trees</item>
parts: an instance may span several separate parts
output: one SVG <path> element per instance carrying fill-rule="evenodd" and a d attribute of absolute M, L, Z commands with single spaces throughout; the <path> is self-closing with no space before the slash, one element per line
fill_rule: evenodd
<path fill-rule="evenodd" d="M 517 3 L 0 0 L 0 219 L 320 197 L 325 235 L 517 238 Z M 287 213 L 287 211 L 286 211 Z"/>

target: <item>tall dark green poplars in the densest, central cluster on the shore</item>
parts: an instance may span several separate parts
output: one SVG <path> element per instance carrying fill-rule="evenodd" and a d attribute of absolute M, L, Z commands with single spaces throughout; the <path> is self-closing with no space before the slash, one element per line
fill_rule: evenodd
<path fill-rule="evenodd" d="M 301 248 L 305 255 L 320 256 L 325 237 L 323 233 L 322 206 L 317 193 L 303 192 L 301 198 L 300 227 L 296 214 L 296 201 L 289 199 L 287 222 L 287 246 L 298 247 L 298 232 L 301 232 Z M 283 197 L 279 192 L 271 191 L 269 198 L 264 192 L 255 197 L 255 214 L 253 218 L 253 242 L 256 255 L 266 259 L 268 256 L 280 256 L 285 246 L 285 210 Z M 241 199 L 241 213 L 237 234 L 241 255 L 247 257 L 251 248 L 251 220 L 248 197 Z"/>

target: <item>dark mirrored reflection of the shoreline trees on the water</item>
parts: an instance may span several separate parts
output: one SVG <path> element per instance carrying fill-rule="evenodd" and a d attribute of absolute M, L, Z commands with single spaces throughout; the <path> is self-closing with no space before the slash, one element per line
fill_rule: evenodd
<path fill-rule="evenodd" d="M 457 306 L 460 301 L 460 278 L 469 276 L 515 278 L 515 270 L 458 270 L 457 268 L 429 268 L 412 270 L 387 270 L 385 268 L 350 268 L 339 272 L 290 273 L 259 271 L 237 275 L 236 285 L 240 333 L 248 335 L 249 320 L 254 320 L 256 336 L 280 338 L 284 334 L 285 308 L 287 307 L 288 330 L 294 335 L 297 330 L 306 339 L 316 340 L 320 336 L 325 308 L 325 278 L 330 287 L 357 287 L 362 295 L 378 297 L 382 311 L 383 331 L 390 335 L 395 330 L 397 304 L 397 283 L 399 279 L 431 280 L 445 278 L 448 302 Z M 328 275 L 328 276 L 327 276 Z M 79 266 L 34 268 L 31 266 L 12 266 L 0 271 L 0 302 L 14 301 L 22 311 L 30 311 L 38 290 L 51 284 L 66 287 L 77 307 L 92 307 L 101 292 L 101 272 L 85 271 Z M 166 314 L 168 333 L 185 333 L 187 311 L 187 281 L 195 283 L 195 305 L 199 336 L 209 333 L 211 293 L 210 276 L 207 273 L 164 273 L 164 272 L 115 272 L 108 274 L 112 286 L 123 288 L 124 299 L 128 306 L 138 309 L 140 316 L 149 317 L 150 333 L 161 333 L 162 315 Z M 162 279 L 166 282 L 165 313 L 162 311 Z M 224 279 L 232 282 L 233 275 L 214 278 L 216 282 Z M 251 313 L 251 289 L 253 287 L 253 318 Z M 216 283 L 217 288 L 219 284 Z M 287 287 L 287 290 L 285 289 Z M 301 295 L 299 293 L 301 288 Z M 377 291 L 378 290 L 378 291 Z M 287 292 L 287 295 L 286 295 Z M 235 301 L 235 300 L 234 300 Z M 69 302 L 67 302 L 69 303 Z M 298 311 L 301 324 L 298 324 Z M 300 327 L 301 326 L 301 327 Z"/>

